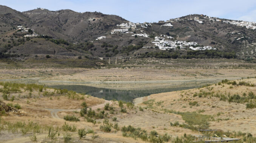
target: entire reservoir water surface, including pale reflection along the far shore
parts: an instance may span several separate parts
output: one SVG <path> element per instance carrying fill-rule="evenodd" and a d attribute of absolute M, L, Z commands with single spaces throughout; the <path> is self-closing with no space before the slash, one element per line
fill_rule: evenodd
<path fill-rule="evenodd" d="M 98 85 L 97 84 L 84 85 L 84 84 L 76 84 L 76 83 L 51 83 L 51 82 L 41 83 L 38 80 L 17 80 L 12 82 L 44 84 L 47 87 L 73 90 L 73 91 L 76 91 L 77 93 L 86 93 L 88 95 L 92 95 L 98 98 L 103 98 L 106 100 L 116 99 L 116 100 L 122 100 L 122 101 L 133 101 L 134 98 L 138 98 L 138 97 L 148 96 L 156 93 L 193 89 L 193 88 L 205 86 L 207 84 L 214 84 L 219 81 L 221 80 L 151 83 L 151 84 L 147 84 L 147 83 L 117 84 L 116 83 L 116 84 L 98 84 Z M 91 85 L 91 86 L 88 86 L 88 85 Z M 134 90 L 129 87 L 137 87 L 137 88 L 136 90 Z"/>

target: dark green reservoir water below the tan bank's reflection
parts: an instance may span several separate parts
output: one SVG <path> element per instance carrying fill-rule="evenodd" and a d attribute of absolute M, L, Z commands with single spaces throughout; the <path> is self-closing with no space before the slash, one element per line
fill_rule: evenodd
<path fill-rule="evenodd" d="M 117 90 L 117 89 L 107 89 L 107 88 L 98 88 L 85 85 L 77 84 L 46 84 L 48 87 L 57 88 L 57 89 L 68 89 L 74 90 L 78 93 L 86 93 L 98 98 L 103 98 L 106 100 L 122 100 L 122 101 L 133 101 L 134 98 L 148 96 L 151 94 L 162 93 L 162 92 L 171 92 L 177 90 L 193 89 L 197 87 L 204 86 L 206 84 L 217 83 L 218 81 L 200 81 L 200 82 L 190 82 L 190 83 L 170 83 L 169 86 L 164 88 L 151 88 L 151 89 L 140 89 L 140 90 Z M 155 83 L 160 84 L 160 83 Z"/>

